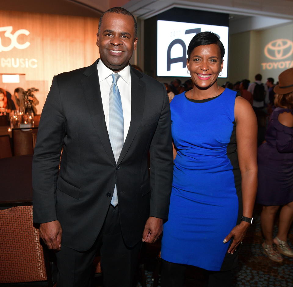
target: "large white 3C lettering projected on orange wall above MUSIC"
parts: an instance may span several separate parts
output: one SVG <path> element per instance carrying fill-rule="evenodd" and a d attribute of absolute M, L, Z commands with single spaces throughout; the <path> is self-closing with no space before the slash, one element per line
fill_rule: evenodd
<path fill-rule="evenodd" d="M 29 31 L 27 31 L 26 29 L 20 29 L 15 31 L 14 33 L 12 33 L 13 27 L 12 26 L 6 26 L 6 27 L 0 27 L 0 32 L 5 31 L 4 36 L 6 38 L 10 39 L 10 45 L 9 46 L 2 46 L 2 41 L 1 41 L 1 37 L 0 37 L 0 52 L 7 52 L 12 50 L 14 47 L 17 49 L 26 49 L 28 46 L 31 45 L 30 42 L 25 42 L 24 44 L 19 44 L 17 42 L 17 37 L 21 34 L 24 34 L 26 36 L 28 36 L 30 34 Z"/>

